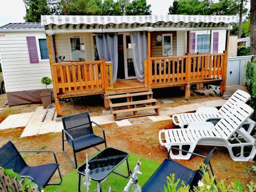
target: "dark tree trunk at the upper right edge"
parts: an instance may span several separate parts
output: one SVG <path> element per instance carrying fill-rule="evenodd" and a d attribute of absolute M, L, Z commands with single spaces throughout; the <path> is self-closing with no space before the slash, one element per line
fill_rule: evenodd
<path fill-rule="evenodd" d="M 251 46 L 251 55 L 256 56 L 256 0 L 251 0 L 250 8 L 250 46 Z"/>

